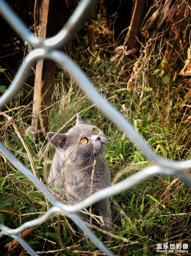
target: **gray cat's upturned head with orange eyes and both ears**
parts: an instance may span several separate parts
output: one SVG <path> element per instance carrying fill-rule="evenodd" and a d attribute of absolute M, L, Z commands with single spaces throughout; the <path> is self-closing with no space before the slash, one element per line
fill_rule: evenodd
<path fill-rule="evenodd" d="M 105 151 L 107 139 L 95 125 L 88 125 L 77 115 L 76 125 L 67 133 L 48 133 L 51 144 L 77 164 L 92 164 Z"/>

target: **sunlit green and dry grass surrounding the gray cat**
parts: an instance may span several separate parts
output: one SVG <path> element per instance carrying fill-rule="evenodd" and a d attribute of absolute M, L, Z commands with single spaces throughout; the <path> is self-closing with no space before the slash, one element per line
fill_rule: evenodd
<path fill-rule="evenodd" d="M 81 66 L 88 70 L 87 61 L 81 57 Z M 122 64 L 108 63 L 93 58 L 95 65 L 87 75 L 103 97 L 118 109 L 162 157 L 172 160 L 191 158 L 190 151 L 190 98 L 185 78 L 173 81 L 174 71 L 161 68 L 159 63 L 148 60 L 148 69 L 139 70 L 135 77 L 135 89 L 126 89 L 127 81 L 120 78 Z M 140 61 L 140 60 L 139 60 Z M 172 59 L 172 62 L 175 61 Z M 140 63 L 140 62 L 138 62 Z M 84 65 L 84 66 L 83 66 Z M 175 63 L 174 63 L 175 65 Z M 140 65 L 141 67 L 141 65 Z M 160 75 L 161 74 L 161 75 Z M 169 77 L 168 79 L 164 76 Z M 84 95 L 74 81 L 58 70 L 53 105 L 50 111 L 49 131 L 67 132 L 76 121 L 77 112 L 87 122 L 103 129 L 108 138 L 105 156 L 108 161 L 112 182 L 116 183 L 150 165 L 143 153 L 128 139 L 117 125 L 105 117 Z M 25 87 L 25 89 L 27 86 Z M 24 100 L 26 95 L 20 97 Z M 10 117 L 14 118 L 20 136 L 32 156 L 35 171 L 46 182 L 53 148 L 44 142 L 35 142 L 25 129 L 31 122 L 32 104 L 19 107 L 17 98 L 10 106 Z M 31 163 L 22 141 L 11 123 L 1 115 L 1 141 L 29 169 Z M 16 228 L 26 221 L 41 216 L 51 205 L 44 195 L 3 157 L 0 172 L 0 220 L 10 228 Z M 104 239 L 98 228 L 96 234 L 116 255 L 157 255 L 158 243 L 190 243 L 190 190 L 177 177 L 155 176 L 141 182 L 118 195 L 113 195 L 114 231 L 111 241 Z M 65 216 L 54 215 L 47 222 L 28 230 L 25 240 L 42 255 L 84 255 L 76 225 Z M 1 239 L 0 255 L 23 255 L 19 245 L 14 250 L 4 246 L 11 242 L 10 237 Z M 103 255 L 91 245 L 87 255 Z M 47 253 L 45 253 L 47 252 Z"/>

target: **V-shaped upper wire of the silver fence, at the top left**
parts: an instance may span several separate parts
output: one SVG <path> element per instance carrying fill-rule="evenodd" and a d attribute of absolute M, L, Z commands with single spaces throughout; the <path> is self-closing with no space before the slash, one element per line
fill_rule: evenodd
<path fill-rule="evenodd" d="M 68 43 L 95 4 L 96 0 L 80 1 L 63 28 L 55 36 L 45 40 L 35 37 L 4 0 L 0 0 L 0 13 L 20 37 L 24 38 L 31 46 L 51 50 Z"/>

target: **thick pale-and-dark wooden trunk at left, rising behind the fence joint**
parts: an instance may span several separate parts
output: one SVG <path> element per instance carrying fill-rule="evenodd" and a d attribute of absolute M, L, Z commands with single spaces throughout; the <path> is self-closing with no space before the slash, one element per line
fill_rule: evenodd
<path fill-rule="evenodd" d="M 55 35 L 59 30 L 62 1 L 42 0 L 40 7 L 39 37 L 46 38 Z M 40 59 L 36 64 L 34 83 L 34 103 L 32 112 L 32 129 L 37 138 L 46 134 L 49 121 L 48 108 L 51 105 L 55 84 L 56 63 Z"/>

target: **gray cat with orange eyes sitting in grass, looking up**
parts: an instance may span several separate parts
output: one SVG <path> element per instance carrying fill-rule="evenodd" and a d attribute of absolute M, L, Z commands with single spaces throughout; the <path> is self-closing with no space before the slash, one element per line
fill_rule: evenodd
<path fill-rule="evenodd" d="M 76 125 L 67 133 L 50 132 L 48 139 L 56 152 L 47 185 L 60 188 L 70 204 L 110 186 L 110 171 L 103 156 L 107 139 L 98 127 L 87 125 L 77 115 Z M 94 204 L 94 207 L 103 216 L 105 226 L 112 227 L 109 198 Z M 87 214 L 79 214 L 88 219 Z"/>

